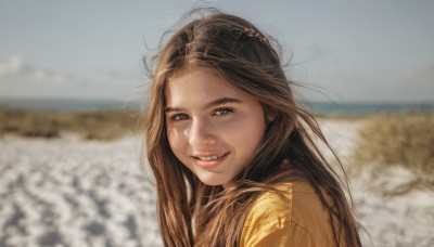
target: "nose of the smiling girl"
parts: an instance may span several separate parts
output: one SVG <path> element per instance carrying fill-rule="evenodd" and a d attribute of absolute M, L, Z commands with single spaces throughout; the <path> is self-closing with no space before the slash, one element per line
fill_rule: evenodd
<path fill-rule="evenodd" d="M 216 143 L 214 128 L 207 119 L 193 119 L 187 134 L 190 145 L 194 147 L 204 147 Z"/>

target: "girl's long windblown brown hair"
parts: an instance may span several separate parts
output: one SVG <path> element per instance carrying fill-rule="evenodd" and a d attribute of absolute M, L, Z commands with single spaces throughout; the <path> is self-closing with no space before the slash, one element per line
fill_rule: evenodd
<path fill-rule="evenodd" d="M 339 222 L 331 220 L 336 246 L 360 246 L 345 186 L 314 138 L 329 144 L 314 117 L 294 102 L 293 82 L 285 76 L 275 40 L 243 18 L 213 10 L 176 31 L 151 62 L 156 66 L 151 68 L 145 145 L 166 246 L 238 246 L 254 200 L 273 190 L 277 180 L 271 177 L 285 174 L 280 166 L 284 159 L 291 160 L 289 169 L 302 171 L 330 218 Z M 201 182 L 177 159 L 167 140 L 167 82 L 182 69 L 194 67 L 212 69 L 256 98 L 264 112 L 273 116 L 257 155 L 226 190 Z M 289 172 L 280 176 L 282 180 L 294 177 Z M 343 236 L 345 243 L 340 243 Z"/>

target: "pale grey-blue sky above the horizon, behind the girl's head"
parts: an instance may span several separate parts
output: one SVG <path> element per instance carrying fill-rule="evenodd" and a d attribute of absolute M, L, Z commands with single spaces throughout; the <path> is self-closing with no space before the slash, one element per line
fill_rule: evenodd
<path fill-rule="evenodd" d="M 197 6 L 244 17 L 276 38 L 304 100 L 434 103 L 430 0 L 0 0 L 0 100 L 141 99 L 143 57 Z"/>

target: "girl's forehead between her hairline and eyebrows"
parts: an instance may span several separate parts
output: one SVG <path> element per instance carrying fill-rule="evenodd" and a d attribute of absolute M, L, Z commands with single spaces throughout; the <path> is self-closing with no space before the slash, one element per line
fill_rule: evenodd
<path fill-rule="evenodd" d="M 167 106 L 205 104 L 219 98 L 248 100 L 252 96 L 207 68 L 177 73 L 166 88 Z"/>

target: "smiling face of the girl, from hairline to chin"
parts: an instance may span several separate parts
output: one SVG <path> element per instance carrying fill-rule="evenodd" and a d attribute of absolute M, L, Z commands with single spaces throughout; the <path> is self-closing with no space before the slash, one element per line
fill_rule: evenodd
<path fill-rule="evenodd" d="M 176 157 L 205 184 L 230 183 L 264 135 L 259 102 L 205 68 L 176 74 L 166 100 L 167 138 Z"/>

